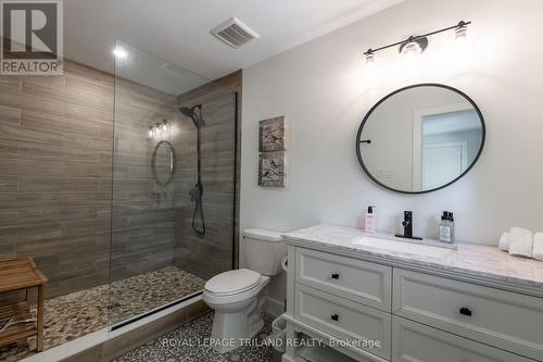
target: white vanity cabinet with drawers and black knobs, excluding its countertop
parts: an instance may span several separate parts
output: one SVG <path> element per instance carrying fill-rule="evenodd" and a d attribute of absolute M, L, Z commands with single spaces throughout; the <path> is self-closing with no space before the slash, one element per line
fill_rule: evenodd
<path fill-rule="evenodd" d="M 287 336 L 369 341 L 332 346 L 352 361 L 543 361 L 542 298 L 374 257 L 289 242 Z"/>

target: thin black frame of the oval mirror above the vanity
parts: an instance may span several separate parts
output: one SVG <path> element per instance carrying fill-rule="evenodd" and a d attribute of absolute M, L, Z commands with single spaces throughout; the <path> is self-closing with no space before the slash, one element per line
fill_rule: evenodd
<path fill-rule="evenodd" d="M 473 162 L 471 162 L 471 164 L 466 168 L 466 171 L 464 171 L 458 177 L 456 177 L 452 182 L 450 182 L 450 183 L 447 183 L 447 184 L 445 184 L 443 186 L 440 186 L 438 188 L 430 189 L 430 190 L 422 190 L 422 191 L 404 191 L 404 190 L 397 190 L 397 189 L 389 187 L 389 186 L 382 184 L 381 182 L 379 182 L 377 178 L 374 177 L 374 175 L 371 175 L 371 173 L 369 172 L 369 170 L 366 167 L 366 165 L 364 164 L 364 160 L 362 159 L 362 152 L 361 152 L 361 142 L 362 142 L 362 140 L 361 140 L 361 136 L 362 136 L 362 130 L 364 129 L 364 126 L 366 125 L 366 122 L 368 121 L 369 116 L 371 115 L 371 113 L 382 102 L 384 102 L 387 99 L 389 99 L 390 97 L 392 97 L 392 96 L 394 96 L 394 95 L 396 95 L 399 92 L 402 92 L 404 90 L 412 89 L 412 88 L 418 88 L 418 87 L 440 87 L 440 88 L 445 88 L 445 89 L 452 90 L 452 91 L 460 95 L 465 99 L 467 99 L 467 101 L 476 110 L 477 114 L 479 115 L 479 120 L 481 121 L 481 132 L 482 132 L 482 135 L 481 135 L 481 146 L 479 147 L 479 151 L 477 152 L 477 155 L 476 155 Z M 379 186 L 381 186 L 381 187 L 383 187 L 383 188 L 386 188 L 388 190 L 394 191 L 394 192 L 408 194 L 408 195 L 417 195 L 417 194 L 427 194 L 427 192 L 432 192 L 432 191 L 440 190 L 442 188 L 451 186 L 452 184 L 456 183 L 458 179 L 460 179 L 462 177 L 464 177 L 473 167 L 473 165 L 477 163 L 477 161 L 479 161 L 479 157 L 481 155 L 483 147 L 484 147 L 484 140 L 485 140 L 485 138 L 487 138 L 487 126 L 484 124 L 484 118 L 482 116 L 481 110 L 479 109 L 479 107 L 477 107 L 476 102 L 473 102 L 473 100 L 471 98 L 469 98 L 462 90 L 458 90 L 458 89 L 456 89 L 454 87 L 451 87 L 451 86 L 445 86 L 445 85 L 439 84 L 439 83 L 420 83 L 420 84 L 415 84 L 415 85 L 411 85 L 411 86 L 407 86 L 407 87 L 403 87 L 403 88 L 396 89 L 393 92 L 384 96 L 380 101 L 378 101 L 374 107 L 371 107 L 371 109 L 368 111 L 368 113 L 366 113 L 366 116 L 362 121 L 361 126 L 358 127 L 358 132 L 356 133 L 355 148 L 356 148 L 356 157 L 358 158 L 358 163 L 361 164 L 361 166 L 364 170 L 364 172 L 366 173 L 366 175 L 368 175 L 369 178 L 371 178 L 371 180 L 374 180 L 377 185 L 379 185 Z"/>

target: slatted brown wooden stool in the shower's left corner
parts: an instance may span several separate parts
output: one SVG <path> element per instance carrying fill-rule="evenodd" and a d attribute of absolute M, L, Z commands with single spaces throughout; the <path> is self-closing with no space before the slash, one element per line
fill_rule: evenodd
<path fill-rule="evenodd" d="M 37 321 L 14 323 L 0 332 L 0 347 L 36 336 L 36 350 L 43 349 L 43 286 L 47 278 L 36 266 L 33 258 L 0 261 L 0 292 L 25 290 L 24 301 L 0 307 L 0 329 L 7 322 L 29 321 L 33 319 L 28 289 L 38 288 Z"/>

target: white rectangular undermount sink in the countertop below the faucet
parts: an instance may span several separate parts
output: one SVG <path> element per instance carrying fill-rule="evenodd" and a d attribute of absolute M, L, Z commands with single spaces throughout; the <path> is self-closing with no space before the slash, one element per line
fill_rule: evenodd
<path fill-rule="evenodd" d="M 361 245 L 369 248 L 386 249 L 390 251 L 420 255 L 427 258 L 445 259 L 456 253 L 456 248 L 452 246 L 433 246 L 421 242 L 401 241 L 381 239 L 376 237 L 362 237 L 353 241 L 355 245 Z"/>

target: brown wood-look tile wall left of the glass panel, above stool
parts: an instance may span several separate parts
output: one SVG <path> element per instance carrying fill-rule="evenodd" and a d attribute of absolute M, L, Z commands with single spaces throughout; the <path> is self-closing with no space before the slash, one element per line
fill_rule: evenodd
<path fill-rule="evenodd" d="M 106 283 L 113 77 L 0 76 L 0 259 L 31 255 L 48 296 Z"/>

